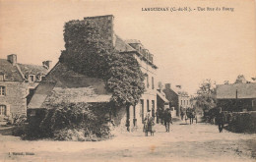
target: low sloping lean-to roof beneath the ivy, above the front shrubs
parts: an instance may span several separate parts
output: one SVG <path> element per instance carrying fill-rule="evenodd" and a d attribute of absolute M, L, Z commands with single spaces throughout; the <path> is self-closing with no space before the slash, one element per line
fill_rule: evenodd
<path fill-rule="evenodd" d="M 57 63 L 36 87 L 28 108 L 47 109 L 51 108 L 49 104 L 62 101 L 108 102 L 111 96 L 104 81 L 78 74 L 63 63 Z"/>

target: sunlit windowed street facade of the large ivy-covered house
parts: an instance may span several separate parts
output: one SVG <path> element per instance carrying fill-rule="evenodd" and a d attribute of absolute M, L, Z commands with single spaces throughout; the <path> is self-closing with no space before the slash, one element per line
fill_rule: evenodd
<path fill-rule="evenodd" d="M 127 110 L 127 118 L 130 121 L 131 130 L 143 127 L 143 121 L 146 114 L 150 112 L 152 117 L 156 117 L 157 112 L 157 70 L 158 67 L 154 64 L 154 55 L 144 47 L 140 40 L 130 39 L 124 43 L 132 47 L 131 51 L 124 51 L 133 54 L 140 64 L 141 71 L 146 75 L 144 81 L 146 91 L 142 94 L 139 103 L 136 106 L 131 106 Z"/>

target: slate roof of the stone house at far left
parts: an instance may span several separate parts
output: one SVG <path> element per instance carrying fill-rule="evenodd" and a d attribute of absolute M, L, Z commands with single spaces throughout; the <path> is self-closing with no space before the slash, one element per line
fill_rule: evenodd
<path fill-rule="evenodd" d="M 46 68 L 38 65 L 20 64 L 12 65 L 6 59 L 0 59 L 0 74 L 5 75 L 4 81 L 26 81 L 29 75 L 35 75 L 35 81 L 40 81 L 39 76 L 45 76 Z"/>

